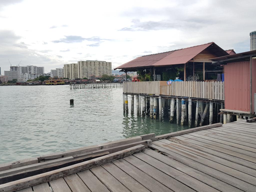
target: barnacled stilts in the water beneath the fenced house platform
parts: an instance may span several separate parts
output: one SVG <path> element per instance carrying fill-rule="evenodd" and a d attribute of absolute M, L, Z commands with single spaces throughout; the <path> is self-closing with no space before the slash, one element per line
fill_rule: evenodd
<path fill-rule="evenodd" d="M 224 102 L 203 101 L 191 98 L 170 98 L 152 95 L 131 94 L 131 114 L 134 114 L 134 97 L 136 101 L 136 113 L 138 116 L 149 115 L 153 119 L 160 121 L 168 115 L 170 123 L 174 122 L 175 116 L 177 124 L 188 124 L 194 127 L 223 123 Z M 128 114 L 128 94 L 123 93 L 123 112 Z M 227 117 L 226 117 L 227 118 Z M 225 120 L 224 120 L 225 122 Z"/>

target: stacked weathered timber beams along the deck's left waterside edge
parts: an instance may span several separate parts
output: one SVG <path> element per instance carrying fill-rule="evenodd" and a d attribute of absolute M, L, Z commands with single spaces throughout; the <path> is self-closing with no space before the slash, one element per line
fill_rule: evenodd
<path fill-rule="evenodd" d="M 146 134 L 67 152 L 0 165 L 0 191 L 16 191 L 81 172 L 143 151 L 155 134 Z"/>

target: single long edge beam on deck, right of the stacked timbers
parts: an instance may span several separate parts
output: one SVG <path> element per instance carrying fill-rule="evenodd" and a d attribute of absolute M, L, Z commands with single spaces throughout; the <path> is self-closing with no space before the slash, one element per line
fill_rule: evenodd
<path fill-rule="evenodd" d="M 176 131 L 176 132 L 173 132 L 173 133 L 167 133 L 167 134 L 164 134 L 164 135 L 158 135 L 155 138 L 152 138 L 152 141 L 159 140 L 159 139 L 164 139 L 164 138 L 168 138 L 168 137 L 173 137 L 173 136 L 177 136 L 177 135 L 192 133 L 192 132 L 195 132 L 195 131 L 210 129 L 212 127 L 218 127 L 218 126 L 221 126 L 221 125 L 222 125 L 222 123 L 214 123 L 214 124 L 211 124 L 211 125 L 205 125 L 205 126 L 201 126 L 201 127 L 192 128 L 192 129 Z"/>

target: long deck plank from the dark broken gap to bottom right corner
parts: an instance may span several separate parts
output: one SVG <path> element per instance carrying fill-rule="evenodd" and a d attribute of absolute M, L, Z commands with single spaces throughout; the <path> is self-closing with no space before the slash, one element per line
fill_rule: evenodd
<path fill-rule="evenodd" d="M 225 183 L 228 183 L 229 185 L 232 185 L 234 187 L 237 187 L 241 190 L 253 192 L 255 186 L 253 186 L 249 183 L 246 183 L 240 179 L 237 179 L 233 176 L 230 176 L 226 173 L 223 173 L 219 170 L 216 170 L 214 168 L 211 168 L 209 166 L 201 164 L 197 161 L 194 161 L 190 158 L 184 157 L 183 155 L 175 153 L 175 152 L 171 151 L 171 149 L 169 150 L 169 146 L 168 146 L 168 149 L 166 149 L 165 147 L 167 147 L 167 145 L 160 141 L 155 141 L 154 144 L 152 145 L 153 148 L 165 153 L 168 157 L 175 159 L 176 161 L 179 161 L 185 165 L 193 167 L 194 169 L 197 169 L 205 174 L 211 175 L 212 177 L 215 177 L 216 179 L 219 179 L 219 180 L 221 180 Z"/>

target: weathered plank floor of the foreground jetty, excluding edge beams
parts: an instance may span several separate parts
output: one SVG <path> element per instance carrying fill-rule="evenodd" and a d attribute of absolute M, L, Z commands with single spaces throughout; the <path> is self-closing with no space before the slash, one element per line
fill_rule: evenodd
<path fill-rule="evenodd" d="M 256 122 L 153 141 L 143 152 L 19 191 L 255 192 Z"/>

